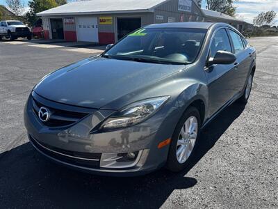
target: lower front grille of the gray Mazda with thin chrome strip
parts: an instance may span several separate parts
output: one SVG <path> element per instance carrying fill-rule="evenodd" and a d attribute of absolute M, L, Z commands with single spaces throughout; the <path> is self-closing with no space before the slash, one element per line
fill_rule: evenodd
<path fill-rule="evenodd" d="M 29 139 L 32 142 L 33 146 L 35 146 L 35 148 L 40 150 L 45 155 L 48 155 L 49 157 L 53 157 L 56 160 L 60 160 L 61 162 L 74 164 L 76 166 L 99 169 L 101 153 L 73 152 L 55 148 L 42 142 L 38 142 L 31 135 L 29 135 Z"/>

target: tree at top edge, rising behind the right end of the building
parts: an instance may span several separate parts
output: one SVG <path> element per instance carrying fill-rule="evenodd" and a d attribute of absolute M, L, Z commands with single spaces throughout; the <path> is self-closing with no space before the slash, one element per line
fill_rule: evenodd
<path fill-rule="evenodd" d="M 206 0 L 206 3 L 209 10 L 224 13 L 232 17 L 236 15 L 236 7 L 233 5 L 234 0 Z"/>

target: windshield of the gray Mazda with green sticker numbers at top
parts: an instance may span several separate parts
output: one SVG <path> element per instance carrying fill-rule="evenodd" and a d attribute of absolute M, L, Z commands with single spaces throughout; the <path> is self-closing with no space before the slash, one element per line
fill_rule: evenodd
<path fill-rule="evenodd" d="M 138 29 L 129 33 L 103 56 L 152 63 L 193 63 L 206 29 Z"/>

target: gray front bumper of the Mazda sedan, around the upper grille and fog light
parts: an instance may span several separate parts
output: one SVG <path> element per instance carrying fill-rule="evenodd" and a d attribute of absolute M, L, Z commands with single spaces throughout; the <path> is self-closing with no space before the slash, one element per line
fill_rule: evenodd
<path fill-rule="evenodd" d="M 47 107 L 69 108 L 41 98 L 33 93 Z M 78 109 L 78 107 L 70 107 Z M 95 125 L 113 114 L 113 110 L 90 109 L 91 113 L 81 121 L 63 127 L 47 127 L 33 111 L 32 96 L 24 110 L 24 123 L 31 144 L 49 159 L 67 167 L 109 176 L 136 176 L 162 167 L 167 160 L 168 146 L 158 149 L 163 139 L 170 138 L 160 131 L 163 120 L 156 117 L 123 130 L 90 134 Z M 163 117 L 158 117 L 163 118 Z M 163 126 L 163 125 L 162 125 Z M 169 128 L 169 126 L 168 126 Z M 165 127 L 162 127 L 165 130 Z M 169 135 L 169 132 L 167 133 Z M 161 137 L 163 135 L 163 138 Z M 101 155 L 140 151 L 132 167 L 106 168 L 100 166 Z"/>

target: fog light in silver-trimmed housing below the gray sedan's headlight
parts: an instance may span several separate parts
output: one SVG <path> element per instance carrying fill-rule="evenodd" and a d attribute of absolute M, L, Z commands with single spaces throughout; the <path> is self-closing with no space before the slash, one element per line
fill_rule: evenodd
<path fill-rule="evenodd" d="M 129 153 L 104 153 L 101 155 L 100 167 L 129 168 L 135 166 L 142 155 L 142 150 Z"/>

